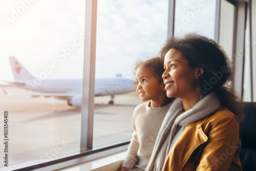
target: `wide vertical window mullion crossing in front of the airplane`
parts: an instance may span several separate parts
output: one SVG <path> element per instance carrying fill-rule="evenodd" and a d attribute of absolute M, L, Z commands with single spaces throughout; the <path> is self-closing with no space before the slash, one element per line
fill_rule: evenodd
<path fill-rule="evenodd" d="M 86 0 L 80 151 L 93 147 L 97 0 Z"/>

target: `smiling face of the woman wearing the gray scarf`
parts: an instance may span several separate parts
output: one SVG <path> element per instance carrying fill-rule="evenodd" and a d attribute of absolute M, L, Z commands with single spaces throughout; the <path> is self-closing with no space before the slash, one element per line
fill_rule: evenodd
<path fill-rule="evenodd" d="M 198 94 L 199 68 L 192 69 L 188 61 L 176 49 L 170 49 L 164 57 L 164 80 L 167 97 L 188 98 Z"/>

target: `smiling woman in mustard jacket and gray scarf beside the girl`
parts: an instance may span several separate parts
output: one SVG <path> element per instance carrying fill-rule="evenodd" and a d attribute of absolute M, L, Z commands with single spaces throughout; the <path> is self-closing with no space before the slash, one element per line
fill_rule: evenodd
<path fill-rule="evenodd" d="M 160 128 L 146 170 L 242 170 L 242 102 L 226 83 L 229 60 L 214 40 L 170 37 L 164 57 L 167 97 L 176 97 Z"/>

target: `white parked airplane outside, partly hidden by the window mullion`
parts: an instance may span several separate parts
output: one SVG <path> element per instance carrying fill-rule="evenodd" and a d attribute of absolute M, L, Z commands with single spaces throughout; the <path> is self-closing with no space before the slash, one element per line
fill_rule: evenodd
<path fill-rule="evenodd" d="M 33 77 L 23 65 L 13 56 L 9 57 L 14 82 L 9 82 L 16 87 L 33 90 L 40 93 L 8 93 L 21 96 L 54 96 L 57 99 L 67 100 L 71 106 L 81 106 L 82 103 L 82 79 L 44 79 Z M 128 78 L 95 78 L 95 96 L 110 95 L 109 104 L 114 104 L 114 95 L 134 92 L 134 80 Z"/>

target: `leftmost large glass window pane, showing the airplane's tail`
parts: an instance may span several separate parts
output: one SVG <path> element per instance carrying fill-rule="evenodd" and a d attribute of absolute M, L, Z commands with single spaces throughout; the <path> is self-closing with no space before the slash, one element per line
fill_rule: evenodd
<path fill-rule="evenodd" d="M 0 80 L 12 82 L 1 87 L 12 95 L 0 94 L 1 168 L 7 168 L 5 155 L 10 168 L 80 151 L 80 108 L 67 104 L 68 95 L 57 99 L 50 94 L 81 93 L 84 10 L 85 1 L 80 0 L 0 2 Z M 6 152 L 4 111 L 9 126 Z"/>

